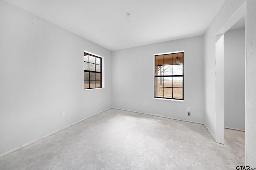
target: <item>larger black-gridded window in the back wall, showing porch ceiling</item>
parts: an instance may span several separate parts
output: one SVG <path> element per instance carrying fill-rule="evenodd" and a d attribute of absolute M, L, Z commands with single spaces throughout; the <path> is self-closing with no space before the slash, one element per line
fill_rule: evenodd
<path fill-rule="evenodd" d="M 155 55 L 155 98 L 183 100 L 184 52 Z"/>

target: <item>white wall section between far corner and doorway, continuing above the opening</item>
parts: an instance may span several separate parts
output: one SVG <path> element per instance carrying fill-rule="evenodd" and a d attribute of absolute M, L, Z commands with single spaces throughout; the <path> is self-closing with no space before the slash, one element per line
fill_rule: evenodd
<path fill-rule="evenodd" d="M 216 138 L 215 35 L 245 0 L 226 0 L 204 33 L 204 124 Z"/>

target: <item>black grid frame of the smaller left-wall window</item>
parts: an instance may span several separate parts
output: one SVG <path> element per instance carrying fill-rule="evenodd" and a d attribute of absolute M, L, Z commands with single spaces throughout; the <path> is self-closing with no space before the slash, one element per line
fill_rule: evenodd
<path fill-rule="evenodd" d="M 102 88 L 102 58 L 98 57 L 96 55 L 92 55 L 90 53 L 84 52 L 84 56 L 86 56 L 86 55 L 88 55 L 89 57 L 88 57 L 88 62 L 84 60 L 84 63 L 88 63 L 88 70 L 85 70 L 85 66 L 84 66 L 84 90 Z M 96 64 L 96 62 L 95 63 L 91 63 L 90 62 L 90 56 L 100 59 L 100 64 Z M 90 70 L 90 64 L 94 64 L 95 65 L 95 71 Z M 96 66 L 97 65 L 100 66 L 100 71 L 96 71 Z M 86 72 L 88 72 L 88 79 L 85 78 L 86 77 L 85 76 Z M 90 73 L 95 73 L 95 77 L 92 78 Z M 100 74 L 100 80 L 97 80 L 96 73 Z M 85 81 L 89 81 L 89 87 L 88 88 L 85 88 Z M 90 81 L 95 81 L 95 87 L 92 87 L 92 88 L 90 87 L 91 86 Z M 100 81 L 100 87 L 97 87 L 97 81 Z"/>

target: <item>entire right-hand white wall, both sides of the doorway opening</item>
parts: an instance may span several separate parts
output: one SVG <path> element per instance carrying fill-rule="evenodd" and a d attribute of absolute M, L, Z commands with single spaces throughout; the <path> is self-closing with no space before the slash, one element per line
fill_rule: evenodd
<path fill-rule="evenodd" d="M 215 34 L 246 2 L 246 164 L 256 167 L 256 1 L 226 0 L 204 33 L 204 123 L 216 135 L 215 112 Z"/>

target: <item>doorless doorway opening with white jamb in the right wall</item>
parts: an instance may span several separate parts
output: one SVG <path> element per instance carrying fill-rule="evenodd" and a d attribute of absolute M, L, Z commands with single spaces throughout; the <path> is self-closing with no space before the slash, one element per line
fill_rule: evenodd
<path fill-rule="evenodd" d="M 216 142 L 245 131 L 245 3 L 216 33 Z"/>

